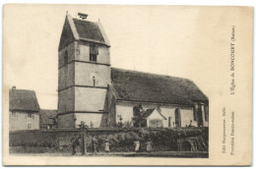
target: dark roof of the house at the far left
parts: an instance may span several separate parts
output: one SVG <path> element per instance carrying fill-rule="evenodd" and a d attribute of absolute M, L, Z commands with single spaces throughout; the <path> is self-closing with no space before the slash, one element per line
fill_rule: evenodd
<path fill-rule="evenodd" d="M 25 89 L 10 89 L 9 109 L 18 111 L 39 111 L 39 105 L 35 92 Z"/>

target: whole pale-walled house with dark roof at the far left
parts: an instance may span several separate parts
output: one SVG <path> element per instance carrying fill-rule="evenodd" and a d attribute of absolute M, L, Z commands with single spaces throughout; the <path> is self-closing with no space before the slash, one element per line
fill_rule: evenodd
<path fill-rule="evenodd" d="M 9 131 L 39 129 L 39 105 L 33 90 L 9 90 Z"/>

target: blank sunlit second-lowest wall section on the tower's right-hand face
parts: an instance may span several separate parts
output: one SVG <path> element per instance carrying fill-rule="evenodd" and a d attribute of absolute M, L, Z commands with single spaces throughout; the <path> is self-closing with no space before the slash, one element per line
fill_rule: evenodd
<path fill-rule="evenodd" d="M 75 110 L 93 111 L 104 110 L 106 88 L 75 87 Z"/>

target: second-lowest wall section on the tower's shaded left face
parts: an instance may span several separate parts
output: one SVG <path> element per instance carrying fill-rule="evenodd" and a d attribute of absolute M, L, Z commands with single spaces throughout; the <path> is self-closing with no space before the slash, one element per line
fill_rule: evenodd
<path fill-rule="evenodd" d="M 70 112 L 75 109 L 75 89 L 74 87 L 69 87 L 67 89 L 61 90 L 58 93 L 58 112 Z"/>

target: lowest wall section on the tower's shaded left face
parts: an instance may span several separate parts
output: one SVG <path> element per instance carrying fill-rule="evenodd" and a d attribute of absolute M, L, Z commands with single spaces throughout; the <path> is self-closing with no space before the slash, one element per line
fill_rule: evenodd
<path fill-rule="evenodd" d="M 74 128 L 75 116 L 73 113 L 58 115 L 58 128 Z"/>

